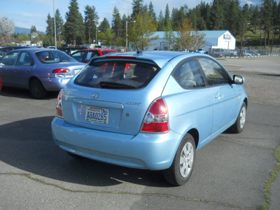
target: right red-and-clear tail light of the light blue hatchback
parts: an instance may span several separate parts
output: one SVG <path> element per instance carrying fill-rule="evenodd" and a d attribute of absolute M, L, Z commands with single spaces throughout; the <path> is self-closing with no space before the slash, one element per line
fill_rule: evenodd
<path fill-rule="evenodd" d="M 168 132 L 168 111 L 165 101 L 160 98 L 153 102 L 150 106 L 143 124 L 141 132 Z"/>

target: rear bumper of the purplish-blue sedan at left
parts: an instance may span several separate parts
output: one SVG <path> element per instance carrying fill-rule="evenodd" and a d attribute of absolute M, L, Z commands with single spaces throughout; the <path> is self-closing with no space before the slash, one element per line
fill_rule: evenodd
<path fill-rule="evenodd" d="M 43 87 L 48 91 L 59 91 L 69 82 L 71 77 L 66 78 L 40 78 Z"/>

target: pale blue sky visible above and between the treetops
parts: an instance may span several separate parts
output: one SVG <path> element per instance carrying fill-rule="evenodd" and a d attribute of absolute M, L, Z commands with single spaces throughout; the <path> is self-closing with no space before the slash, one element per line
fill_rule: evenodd
<path fill-rule="evenodd" d="M 200 0 L 144 0 L 144 4 L 149 5 L 150 1 L 153 3 L 153 8 L 158 16 L 160 10 L 165 14 L 165 8 L 169 6 L 170 13 L 172 8 L 180 8 L 184 4 L 188 8 L 194 8 L 200 3 Z M 211 3 L 213 0 L 204 0 L 206 3 Z M 239 0 L 241 6 L 245 3 L 261 3 L 261 0 Z M 38 31 L 45 32 L 47 27 L 46 20 L 48 13 L 53 17 L 54 5 L 55 10 L 59 9 L 59 12 L 64 18 L 65 14 L 69 11 L 70 0 L 0 0 L 0 18 L 7 17 L 12 20 L 17 27 L 23 27 L 30 29 L 32 25 L 36 27 Z M 111 23 L 113 8 L 116 6 L 120 11 L 121 17 L 123 15 L 130 15 L 132 13 L 132 0 L 78 0 L 78 6 L 80 13 L 85 15 L 85 6 L 94 6 L 99 15 L 99 22 L 102 22 L 104 18 Z"/>

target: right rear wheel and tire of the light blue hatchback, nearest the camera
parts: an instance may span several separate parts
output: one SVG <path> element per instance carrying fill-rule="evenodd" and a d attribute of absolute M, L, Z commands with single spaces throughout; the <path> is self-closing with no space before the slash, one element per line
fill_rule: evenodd
<path fill-rule="evenodd" d="M 172 166 L 163 171 L 166 181 L 174 186 L 182 186 L 190 179 L 194 165 L 195 140 L 192 135 L 186 134 L 179 145 Z"/>

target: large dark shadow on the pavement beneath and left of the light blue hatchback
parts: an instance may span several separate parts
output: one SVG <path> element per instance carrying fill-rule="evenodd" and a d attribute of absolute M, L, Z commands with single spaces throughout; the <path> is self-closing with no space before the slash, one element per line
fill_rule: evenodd
<path fill-rule="evenodd" d="M 31 118 L 0 125 L 0 160 L 27 173 L 86 186 L 115 186 L 129 182 L 170 187 L 162 172 L 72 158 L 52 141 L 52 119 Z"/>

